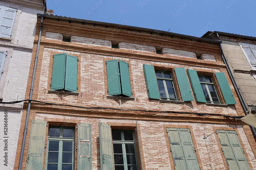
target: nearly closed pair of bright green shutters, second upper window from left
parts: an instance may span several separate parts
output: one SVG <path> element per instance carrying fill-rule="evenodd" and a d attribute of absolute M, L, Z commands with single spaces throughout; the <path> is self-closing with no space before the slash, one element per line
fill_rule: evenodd
<path fill-rule="evenodd" d="M 128 63 L 118 59 L 108 60 L 106 67 L 109 95 L 132 97 Z"/>

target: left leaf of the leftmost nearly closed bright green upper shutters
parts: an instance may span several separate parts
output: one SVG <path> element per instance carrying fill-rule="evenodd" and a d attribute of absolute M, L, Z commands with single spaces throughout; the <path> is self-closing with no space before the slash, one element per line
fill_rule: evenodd
<path fill-rule="evenodd" d="M 64 89 L 66 53 L 53 56 L 51 90 Z"/>

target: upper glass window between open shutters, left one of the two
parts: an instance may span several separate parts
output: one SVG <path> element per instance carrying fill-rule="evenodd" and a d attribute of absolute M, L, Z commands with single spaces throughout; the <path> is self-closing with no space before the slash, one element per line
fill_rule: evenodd
<path fill-rule="evenodd" d="M 171 72 L 155 70 L 155 73 L 160 99 L 177 101 Z"/>

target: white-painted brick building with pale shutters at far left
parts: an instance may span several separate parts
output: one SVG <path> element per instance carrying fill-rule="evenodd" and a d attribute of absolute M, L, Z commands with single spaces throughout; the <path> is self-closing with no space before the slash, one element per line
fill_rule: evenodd
<path fill-rule="evenodd" d="M 25 99 L 27 81 L 31 79 L 28 73 L 37 13 L 43 14 L 44 11 L 44 0 L 0 0 L 0 101 L 2 102 Z M 23 102 L 0 103 L 1 170 L 14 167 L 22 112 Z"/>

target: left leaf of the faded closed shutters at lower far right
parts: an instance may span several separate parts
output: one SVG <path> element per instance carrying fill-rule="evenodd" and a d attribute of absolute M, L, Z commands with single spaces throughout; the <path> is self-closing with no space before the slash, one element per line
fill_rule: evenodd
<path fill-rule="evenodd" d="M 226 130 L 216 130 L 216 133 L 219 137 L 221 149 L 227 161 L 228 168 L 233 170 L 239 169 L 229 140 L 227 138 Z"/>

